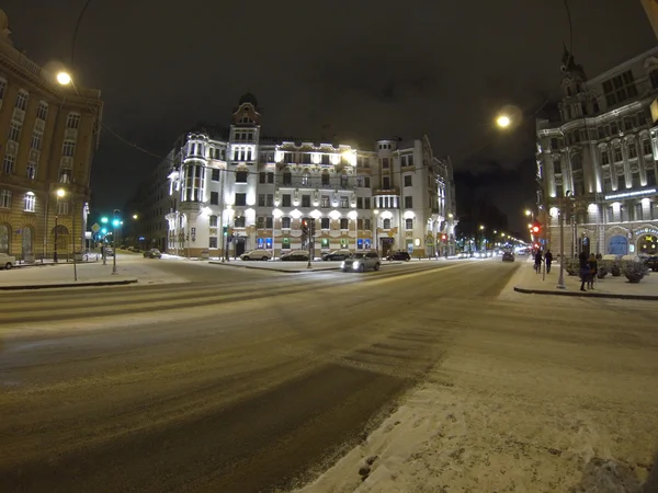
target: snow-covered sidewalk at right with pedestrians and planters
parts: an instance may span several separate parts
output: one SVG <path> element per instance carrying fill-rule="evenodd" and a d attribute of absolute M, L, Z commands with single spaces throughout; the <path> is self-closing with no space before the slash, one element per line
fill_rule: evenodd
<path fill-rule="evenodd" d="M 645 276 L 639 283 L 629 283 L 625 276 L 613 277 L 608 274 L 603 279 L 594 280 L 594 289 L 587 291 L 580 290 L 580 278 L 570 276 L 565 270 L 566 289 L 557 287 L 559 279 L 559 263 L 556 262 L 551 267 L 551 274 L 536 274 L 533 268 L 533 262 L 529 260 L 523 262 L 521 268 L 514 278 L 514 290 L 524 294 L 535 295 L 558 295 L 558 296 L 582 296 L 593 298 L 621 298 L 621 299 L 658 299 L 658 275 Z"/>

